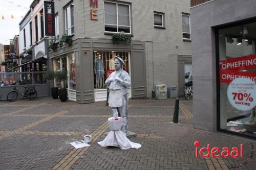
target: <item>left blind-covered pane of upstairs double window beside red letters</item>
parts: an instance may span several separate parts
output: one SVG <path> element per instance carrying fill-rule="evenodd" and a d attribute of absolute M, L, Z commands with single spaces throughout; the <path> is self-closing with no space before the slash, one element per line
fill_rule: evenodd
<path fill-rule="evenodd" d="M 104 3 L 105 24 L 117 25 L 116 4 Z"/>

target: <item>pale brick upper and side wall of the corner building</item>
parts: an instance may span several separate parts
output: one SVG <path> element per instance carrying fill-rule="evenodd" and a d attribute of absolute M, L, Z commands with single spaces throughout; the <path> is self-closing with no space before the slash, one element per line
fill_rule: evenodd
<path fill-rule="evenodd" d="M 59 15 L 59 35 L 65 33 L 63 6 L 69 0 L 54 1 Z M 118 1 L 117 1 L 118 2 Z M 182 39 L 182 13 L 190 13 L 187 0 L 122 0 L 131 4 L 133 41 L 145 41 L 147 96 L 155 85 L 178 86 L 177 55 L 191 55 L 191 42 Z M 91 20 L 90 1 L 74 1 L 75 35 L 77 38 L 112 39 L 104 34 L 103 1 L 98 4 L 98 20 Z M 96 9 L 96 8 L 94 8 Z M 154 28 L 154 11 L 165 15 L 165 28 Z"/>

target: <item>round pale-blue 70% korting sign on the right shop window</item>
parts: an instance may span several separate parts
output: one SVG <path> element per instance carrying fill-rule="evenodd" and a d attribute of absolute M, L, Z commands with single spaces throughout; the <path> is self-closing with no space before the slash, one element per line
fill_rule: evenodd
<path fill-rule="evenodd" d="M 256 85 L 249 78 L 234 79 L 227 88 L 229 103 L 236 109 L 247 111 L 256 106 Z"/>

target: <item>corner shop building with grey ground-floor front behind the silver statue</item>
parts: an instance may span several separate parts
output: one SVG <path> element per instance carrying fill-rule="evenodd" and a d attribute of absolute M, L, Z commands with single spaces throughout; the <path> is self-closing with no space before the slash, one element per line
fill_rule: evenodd
<path fill-rule="evenodd" d="M 131 98 L 151 98 L 158 84 L 184 91 L 178 82 L 185 81 L 185 63 L 191 65 L 189 2 L 145 2 L 54 1 L 55 38 L 67 34 L 73 41 L 50 52 L 50 67 L 68 71 L 71 100 L 106 100 L 104 82 L 115 55 L 131 75 Z M 132 41 L 114 43 L 115 33 L 132 35 Z"/>

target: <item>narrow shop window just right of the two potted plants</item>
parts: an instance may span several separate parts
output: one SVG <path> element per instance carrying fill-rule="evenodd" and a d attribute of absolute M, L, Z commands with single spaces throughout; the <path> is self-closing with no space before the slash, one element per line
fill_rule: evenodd
<path fill-rule="evenodd" d="M 74 53 L 68 54 L 69 59 L 69 89 L 76 89 L 76 72 L 75 72 L 75 56 Z"/>

